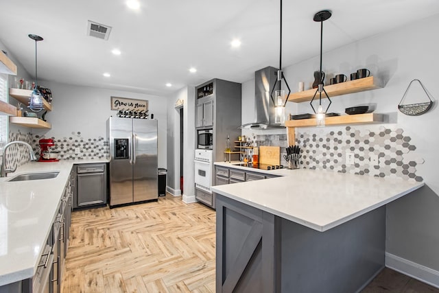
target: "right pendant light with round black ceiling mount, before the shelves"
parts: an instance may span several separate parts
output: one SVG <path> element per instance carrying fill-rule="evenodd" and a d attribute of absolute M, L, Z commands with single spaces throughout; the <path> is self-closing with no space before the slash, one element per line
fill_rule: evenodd
<path fill-rule="evenodd" d="M 331 11 L 322 10 L 322 11 L 317 12 L 313 18 L 314 21 L 320 22 L 320 76 L 322 76 L 323 21 L 326 21 L 327 19 L 329 19 L 331 17 L 331 15 L 332 15 Z M 319 94 L 319 97 L 318 97 L 318 108 L 317 108 L 317 112 L 316 112 L 316 109 L 313 107 L 313 100 L 316 98 L 317 93 Z M 323 111 L 323 107 L 322 107 L 322 93 L 324 93 L 324 95 L 326 95 L 327 98 L 329 99 L 329 105 L 328 105 L 327 109 L 324 111 Z M 324 126 L 324 117 L 325 117 L 326 113 L 328 112 L 328 109 L 329 109 L 329 106 L 331 106 L 331 103 L 332 103 L 332 101 L 329 98 L 327 91 L 324 90 L 323 80 L 320 80 L 320 83 L 318 84 L 318 88 L 316 90 L 316 93 L 314 93 L 314 96 L 311 99 L 311 102 L 309 103 L 309 104 L 311 104 L 311 108 L 313 108 L 314 113 L 316 113 L 318 127 Z"/>

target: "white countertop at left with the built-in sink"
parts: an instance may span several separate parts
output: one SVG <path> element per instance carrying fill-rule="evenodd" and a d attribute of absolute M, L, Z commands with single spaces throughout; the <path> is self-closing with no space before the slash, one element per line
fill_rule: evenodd
<path fill-rule="evenodd" d="M 36 272 L 73 164 L 108 160 L 31 162 L 0 178 L 0 286 Z M 56 178 L 8 182 L 19 174 L 59 171 Z"/>

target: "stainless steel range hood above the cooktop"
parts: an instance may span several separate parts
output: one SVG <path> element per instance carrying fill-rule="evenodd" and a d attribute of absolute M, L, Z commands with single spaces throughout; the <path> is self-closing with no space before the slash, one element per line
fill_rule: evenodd
<path fill-rule="evenodd" d="M 276 78 L 277 69 L 274 67 L 265 67 L 254 73 L 254 122 L 243 124 L 241 128 L 285 128 L 281 124 L 274 124 L 274 104 L 270 93 Z"/>

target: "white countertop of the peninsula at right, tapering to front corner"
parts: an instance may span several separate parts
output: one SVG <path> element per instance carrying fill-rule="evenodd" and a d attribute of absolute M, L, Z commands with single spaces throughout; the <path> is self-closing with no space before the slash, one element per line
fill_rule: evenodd
<path fill-rule="evenodd" d="M 230 163 L 224 166 L 254 171 Z M 311 169 L 278 169 L 268 172 L 283 176 L 217 185 L 211 189 L 217 194 L 323 232 L 424 185 L 401 178 L 378 178 Z"/>

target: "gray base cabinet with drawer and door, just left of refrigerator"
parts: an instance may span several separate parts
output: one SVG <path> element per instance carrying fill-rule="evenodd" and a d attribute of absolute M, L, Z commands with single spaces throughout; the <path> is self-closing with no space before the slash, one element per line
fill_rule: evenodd
<path fill-rule="evenodd" d="M 106 164 L 75 165 L 73 208 L 102 206 L 107 203 Z"/>

